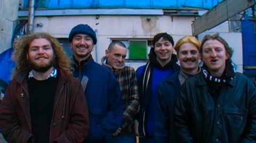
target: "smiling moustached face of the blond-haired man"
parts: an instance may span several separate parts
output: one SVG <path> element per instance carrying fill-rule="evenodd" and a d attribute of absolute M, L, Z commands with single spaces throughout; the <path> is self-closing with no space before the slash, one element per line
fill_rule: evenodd
<path fill-rule="evenodd" d="M 197 70 L 199 64 L 199 51 L 196 45 L 184 43 L 180 45 L 178 58 L 180 66 L 184 70 Z"/>

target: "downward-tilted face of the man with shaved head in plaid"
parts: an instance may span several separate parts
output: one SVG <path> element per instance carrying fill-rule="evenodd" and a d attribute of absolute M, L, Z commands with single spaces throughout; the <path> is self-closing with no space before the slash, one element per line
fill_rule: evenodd
<path fill-rule="evenodd" d="M 127 54 L 127 49 L 115 45 L 111 52 L 108 50 L 105 52 L 107 58 L 108 58 L 108 64 L 112 66 L 113 69 L 123 69 L 125 66 L 125 57 Z"/>

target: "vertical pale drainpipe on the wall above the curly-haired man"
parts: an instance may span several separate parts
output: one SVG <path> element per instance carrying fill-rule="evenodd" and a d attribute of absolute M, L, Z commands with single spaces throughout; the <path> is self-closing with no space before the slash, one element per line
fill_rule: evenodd
<path fill-rule="evenodd" d="M 33 32 L 34 12 L 35 12 L 35 0 L 30 0 L 29 12 L 28 12 L 28 27 L 27 27 L 28 34 Z"/>

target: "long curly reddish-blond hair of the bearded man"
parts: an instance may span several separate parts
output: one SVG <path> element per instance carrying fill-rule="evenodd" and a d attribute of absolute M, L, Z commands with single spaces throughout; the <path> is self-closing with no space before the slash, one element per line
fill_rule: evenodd
<path fill-rule="evenodd" d="M 19 38 L 12 54 L 12 60 L 16 63 L 15 69 L 12 72 L 12 79 L 21 71 L 31 70 L 29 69 L 29 61 L 27 60 L 28 49 L 33 40 L 41 38 L 44 38 L 51 43 L 55 55 L 54 68 L 63 69 L 68 72 L 68 74 L 71 74 L 70 60 L 57 39 L 49 33 L 39 32 Z"/>

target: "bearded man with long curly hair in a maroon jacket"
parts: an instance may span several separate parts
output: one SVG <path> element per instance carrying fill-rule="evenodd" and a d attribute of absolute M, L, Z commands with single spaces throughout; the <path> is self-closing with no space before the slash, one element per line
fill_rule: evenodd
<path fill-rule="evenodd" d="M 17 64 L 0 106 L 5 140 L 82 142 L 89 131 L 86 99 L 57 39 L 47 33 L 26 35 L 12 58 Z"/>

